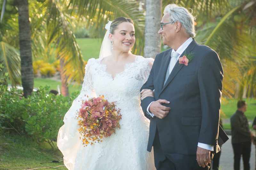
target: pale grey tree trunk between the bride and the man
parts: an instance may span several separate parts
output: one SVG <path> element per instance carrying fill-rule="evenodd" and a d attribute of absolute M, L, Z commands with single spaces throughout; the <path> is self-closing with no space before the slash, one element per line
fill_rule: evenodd
<path fill-rule="evenodd" d="M 162 0 L 146 0 L 144 57 L 155 58 L 161 51 L 161 36 L 158 35 L 162 17 Z"/>

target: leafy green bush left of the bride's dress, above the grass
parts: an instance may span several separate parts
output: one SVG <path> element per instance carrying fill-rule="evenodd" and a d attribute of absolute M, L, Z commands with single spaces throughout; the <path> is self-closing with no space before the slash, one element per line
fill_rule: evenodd
<path fill-rule="evenodd" d="M 64 115 L 78 92 L 72 97 L 55 96 L 48 93 L 47 86 L 40 87 L 28 98 L 21 97 L 20 92 L 16 89 L 8 91 L 7 87 L 0 85 L 0 125 L 51 145 L 57 139 Z"/>

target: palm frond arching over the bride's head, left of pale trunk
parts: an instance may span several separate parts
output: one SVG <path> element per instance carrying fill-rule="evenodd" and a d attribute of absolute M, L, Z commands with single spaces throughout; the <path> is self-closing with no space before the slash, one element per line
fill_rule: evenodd
<path fill-rule="evenodd" d="M 74 12 L 82 16 L 86 22 L 86 27 L 97 32 L 104 37 L 105 25 L 108 20 L 117 17 L 131 18 L 135 27 L 136 42 L 133 47 L 135 54 L 143 53 L 144 44 L 144 14 L 145 11 L 139 11 L 139 3 L 132 0 L 71 0 L 71 6 Z"/>

